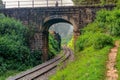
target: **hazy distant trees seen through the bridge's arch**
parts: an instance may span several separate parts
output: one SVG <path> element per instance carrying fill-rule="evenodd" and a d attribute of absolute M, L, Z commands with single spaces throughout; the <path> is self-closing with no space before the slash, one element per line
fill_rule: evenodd
<path fill-rule="evenodd" d="M 68 23 L 57 23 L 50 27 L 50 30 L 55 31 L 60 34 L 62 45 L 68 44 L 73 35 L 72 25 Z"/>

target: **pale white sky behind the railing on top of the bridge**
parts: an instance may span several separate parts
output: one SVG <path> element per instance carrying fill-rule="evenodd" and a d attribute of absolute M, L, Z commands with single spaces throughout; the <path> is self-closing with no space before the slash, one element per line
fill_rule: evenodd
<path fill-rule="evenodd" d="M 33 6 L 32 1 L 34 1 L 34 7 L 47 6 L 47 0 L 3 0 L 3 3 L 6 4 L 6 8 L 16 8 L 18 7 L 18 4 L 20 5 L 20 7 L 32 7 Z M 61 6 L 61 3 L 63 6 L 73 5 L 72 0 L 57 0 L 57 1 L 59 3 L 58 4 L 59 6 Z M 55 3 L 56 0 L 48 0 L 48 6 L 55 6 Z"/>

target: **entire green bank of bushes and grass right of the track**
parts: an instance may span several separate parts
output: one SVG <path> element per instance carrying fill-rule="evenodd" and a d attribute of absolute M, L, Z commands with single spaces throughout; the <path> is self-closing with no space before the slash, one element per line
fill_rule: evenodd
<path fill-rule="evenodd" d="M 51 80 L 104 80 L 108 53 L 114 40 L 120 39 L 119 35 L 120 8 L 100 10 L 95 21 L 82 30 L 76 42 L 75 61 L 58 71 Z M 117 68 L 120 75 L 118 55 Z"/>

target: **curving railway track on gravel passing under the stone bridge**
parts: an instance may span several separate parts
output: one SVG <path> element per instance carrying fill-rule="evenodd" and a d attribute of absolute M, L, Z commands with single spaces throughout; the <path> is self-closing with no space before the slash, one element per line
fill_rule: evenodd
<path fill-rule="evenodd" d="M 50 73 L 55 73 L 58 64 L 61 62 L 64 63 L 70 59 L 72 51 L 67 47 L 64 47 L 63 51 L 64 54 L 58 55 L 54 59 L 51 59 L 25 72 L 21 72 L 16 76 L 11 76 L 7 80 L 47 80 L 47 77 L 51 75 Z"/>

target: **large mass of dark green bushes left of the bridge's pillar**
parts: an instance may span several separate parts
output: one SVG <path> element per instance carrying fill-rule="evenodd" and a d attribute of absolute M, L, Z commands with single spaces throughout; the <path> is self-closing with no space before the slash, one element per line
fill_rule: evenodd
<path fill-rule="evenodd" d="M 3 59 L 0 74 L 9 69 L 18 69 L 29 60 L 27 55 L 30 51 L 26 46 L 27 30 L 21 22 L 0 15 L 0 58 Z M 18 66 L 17 63 L 21 64 Z"/>

